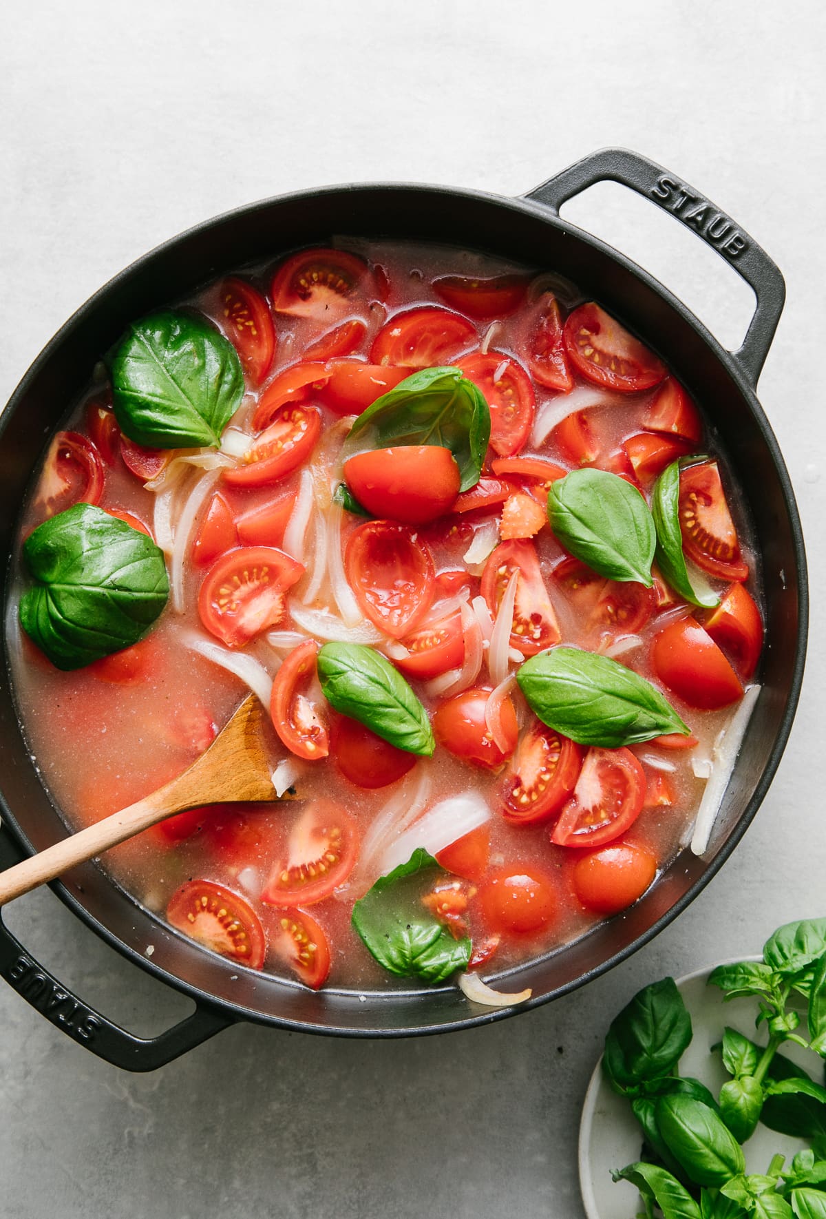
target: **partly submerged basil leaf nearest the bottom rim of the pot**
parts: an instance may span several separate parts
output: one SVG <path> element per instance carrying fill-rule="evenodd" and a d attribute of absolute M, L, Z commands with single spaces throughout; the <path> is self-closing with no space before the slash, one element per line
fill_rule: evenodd
<path fill-rule="evenodd" d="M 473 946 L 454 940 L 422 902 L 423 875 L 447 876 L 422 847 L 407 863 L 380 876 L 356 902 L 352 924 L 367 950 L 391 974 L 442 983 L 467 969 Z"/>

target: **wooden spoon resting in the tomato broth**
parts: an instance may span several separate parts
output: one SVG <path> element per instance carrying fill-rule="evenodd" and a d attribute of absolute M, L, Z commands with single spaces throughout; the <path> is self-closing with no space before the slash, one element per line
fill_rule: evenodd
<path fill-rule="evenodd" d="M 55 880 L 77 863 L 94 858 L 173 813 L 236 800 L 277 801 L 262 725 L 263 708 L 255 695 L 250 695 L 212 745 L 177 779 L 0 873 L 0 906 Z"/>

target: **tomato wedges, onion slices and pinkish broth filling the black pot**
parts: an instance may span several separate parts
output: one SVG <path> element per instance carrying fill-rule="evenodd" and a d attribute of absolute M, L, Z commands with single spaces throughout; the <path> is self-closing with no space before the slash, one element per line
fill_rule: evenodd
<path fill-rule="evenodd" d="M 490 975 L 625 908 L 690 841 L 708 777 L 724 764 L 715 742 L 753 684 L 761 641 L 755 557 L 744 506 L 697 406 L 573 285 L 452 249 L 340 244 L 244 272 L 175 306 L 185 318 L 210 319 L 244 366 L 242 400 L 219 450 L 155 450 L 140 435 L 124 438 L 100 366 L 34 480 L 21 546 L 77 502 L 99 505 L 155 539 L 171 596 L 139 641 L 65 672 L 19 627 L 30 577 L 18 558 L 7 616 L 16 697 L 39 773 L 77 829 L 189 766 L 249 692 L 242 677 L 216 663 L 216 650 L 251 657 L 267 692 L 273 679 L 277 691 L 284 686 L 269 747 L 275 780 L 296 798 L 182 813 L 107 852 L 106 870 L 182 934 L 239 965 L 311 986 L 409 985 L 373 959 L 351 923 L 353 904 L 392 861 L 392 833 L 376 839 L 376 825 L 386 820 L 403 842 L 432 853 L 426 833 L 415 841 L 415 825 L 471 791 L 476 811 L 481 803 L 490 816 L 476 817 L 458 845 L 439 839 L 443 870 L 423 872 L 417 884 L 423 909 L 457 942 L 471 941 L 469 968 Z M 422 369 L 457 367 L 491 408 L 478 482 L 459 492 L 456 451 L 436 471 L 431 438 L 424 457 L 412 451 L 414 439 L 395 446 L 419 471 L 402 471 L 401 492 L 383 473 L 401 458 L 389 458 L 394 446 L 376 447 L 374 436 L 370 445 L 369 432 L 361 446 L 347 441 L 353 451 L 342 461 L 355 419 L 373 401 Z M 270 438 L 266 452 L 262 436 Z M 261 456 L 251 457 L 256 446 Z M 378 475 L 370 456 L 356 477 L 347 463 L 358 449 L 379 457 Z M 669 584 L 659 555 L 651 589 L 612 580 L 563 546 L 546 513 L 549 488 L 571 471 L 608 472 L 651 502 L 666 467 L 688 457 L 696 462 L 680 479 L 698 488 L 690 500 L 680 483 L 683 551 L 694 588 L 725 597 L 716 619 Z M 351 496 L 344 502 L 342 485 Z M 376 494 L 378 507 L 367 502 Z M 353 497 L 372 511 L 359 513 Z M 385 503 L 398 506 L 383 511 Z M 258 629 L 252 610 L 231 623 L 222 610 L 225 589 L 250 580 L 231 568 L 241 550 L 256 572 L 273 551 L 283 556 L 280 601 L 269 592 L 262 600 L 259 588 L 250 594 Z M 510 586 L 513 631 L 503 651 L 496 622 Z M 369 647 L 402 673 L 435 730 L 432 756 L 330 705 L 316 657 L 331 642 Z M 625 747 L 571 745 L 562 734 L 559 755 L 559 731 L 554 744 L 554 729 L 513 680 L 523 661 L 558 644 L 632 669 L 692 735 L 652 733 Z M 482 694 L 474 701 L 473 691 Z M 558 798 L 542 814 L 554 781 Z M 586 808 L 595 789 L 596 830 Z M 532 819 L 526 811 L 536 807 Z M 308 842 L 329 861 L 327 891 L 307 870 L 316 848 Z M 616 848 L 631 850 L 620 858 Z M 294 872 L 303 896 L 290 887 Z M 525 876 L 520 896 L 514 878 Z M 206 889 L 191 887 L 199 884 Z M 229 903 L 234 922 L 222 924 L 205 894 L 218 895 L 221 914 Z M 233 939 L 239 925 L 250 933 L 241 947 Z"/>

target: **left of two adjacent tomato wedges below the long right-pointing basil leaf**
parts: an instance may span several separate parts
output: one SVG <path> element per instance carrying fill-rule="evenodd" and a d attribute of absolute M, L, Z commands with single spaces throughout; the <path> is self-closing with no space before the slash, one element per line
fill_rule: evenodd
<path fill-rule="evenodd" d="M 536 720 L 508 767 L 502 816 L 514 825 L 547 820 L 574 791 L 581 766 L 581 747 Z"/>

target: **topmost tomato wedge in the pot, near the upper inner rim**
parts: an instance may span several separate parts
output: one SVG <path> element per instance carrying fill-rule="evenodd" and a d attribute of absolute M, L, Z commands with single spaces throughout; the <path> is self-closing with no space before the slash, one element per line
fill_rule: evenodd
<path fill-rule="evenodd" d="M 270 291 L 277 313 L 334 318 L 375 294 L 370 268 L 344 250 L 301 250 L 283 262 Z"/>

